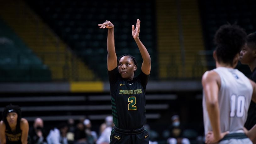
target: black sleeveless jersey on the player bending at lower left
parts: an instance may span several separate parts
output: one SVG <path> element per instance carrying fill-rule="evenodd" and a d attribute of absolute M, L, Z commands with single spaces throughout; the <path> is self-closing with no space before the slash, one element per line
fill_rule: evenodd
<path fill-rule="evenodd" d="M 5 138 L 6 138 L 6 144 L 21 144 L 21 129 L 20 129 L 20 123 L 17 122 L 16 130 L 13 132 L 9 126 L 9 124 L 6 125 L 5 130 Z"/>

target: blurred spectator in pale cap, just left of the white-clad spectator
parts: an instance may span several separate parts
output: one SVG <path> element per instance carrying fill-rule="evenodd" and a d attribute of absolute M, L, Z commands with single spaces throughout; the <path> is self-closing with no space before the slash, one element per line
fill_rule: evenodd
<path fill-rule="evenodd" d="M 97 141 L 97 133 L 95 131 L 92 131 L 92 123 L 89 119 L 84 120 L 85 125 L 85 133 L 87 135 L 87 142 L 88 144 L 95 144 Z"/>

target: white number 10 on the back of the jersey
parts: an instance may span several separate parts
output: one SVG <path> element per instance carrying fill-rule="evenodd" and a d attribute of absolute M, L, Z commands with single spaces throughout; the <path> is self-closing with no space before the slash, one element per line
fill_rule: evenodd
<path fill-rule="evenodd" d="M 244 114 L 245 97 L 242 95 L 231 95 L 231 112 L 230 117 L 242 118 Z"/>

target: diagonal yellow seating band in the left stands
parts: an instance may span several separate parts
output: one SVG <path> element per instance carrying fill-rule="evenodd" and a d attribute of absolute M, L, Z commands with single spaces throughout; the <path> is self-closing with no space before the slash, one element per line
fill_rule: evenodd
<path fill-rule="evenodd" d="M 0 17 L 49 67 L 53 81 L 99 80 L 24 1 L 6 1 L 0 7 Z"/>

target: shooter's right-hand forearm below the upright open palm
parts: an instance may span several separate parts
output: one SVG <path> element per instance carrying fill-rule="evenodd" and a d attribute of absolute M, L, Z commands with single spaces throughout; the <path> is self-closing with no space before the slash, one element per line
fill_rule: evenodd
<path fill-rule="evenodd" d="M 139 38 L 135 38 L 134 40 L 135 40 L 137 46 L 139 47 L 139 50 L 140 50 L 140 53 L 141 53 L 141 56 L 143 59 L 143 63 L 151 64 L 151 58 L 147 51 L 147 48 L 143 45 L 143 43 L 141 42 L 141 40 Z"/>

